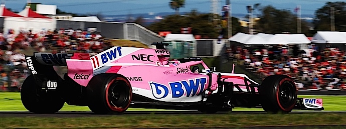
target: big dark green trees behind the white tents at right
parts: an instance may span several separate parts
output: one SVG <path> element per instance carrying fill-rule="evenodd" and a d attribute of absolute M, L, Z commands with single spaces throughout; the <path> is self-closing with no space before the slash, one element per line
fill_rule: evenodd
<path fill-rule="evenodd" d="M 256 28 L 264 33 L 296 33 L 297 16 L 289 10 L 276 9 L 273 6 L 259 8 L 261 18 Z M 301 20 L 301 31 L 312 36 L 316 31 L 346 31 L 346 2 L 326 2 L 315 11 L 312 23 Z M 332 20 L 333 19 L 333 20 Z M 334 24 L 334 25 L 333 25 Z M 308 26 L 311 26 L 310 29 Z"/>

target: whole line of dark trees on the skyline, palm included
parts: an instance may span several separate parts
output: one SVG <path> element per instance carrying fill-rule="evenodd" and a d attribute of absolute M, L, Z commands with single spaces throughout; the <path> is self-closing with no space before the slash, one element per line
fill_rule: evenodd
<path fill-rule="evenodd" d="M 217 38 L 221 33 L 227 34 L 227 29 L 222 29 L 222 31 L 220 29 L 215 29 L 215 26 L 213 26 L 210 20 L 210 13 L 199 13 L 194 9 L 185 15 L 178 15 L 179 9 L 185 6 L 185 1 L 186 0 L 170 0 L 169 7 L 176 11 L 176 15 L 165 16 L 163 20 L 152 23 L 146 27 L 150 28 L 154 32 L 171 31 L 172 33 L 180 33 L 182 27 L 192 27 L 193 34 L 199 34 L 211 38 Z M 332 8 L 334 11 L 332 11 Z M 277 9 L 271 5 L 263 7 L 259 3 L 254 4 L 254 9 L 260 12 L 258 14 L 260 20 L 257 21 L 257 24 L 254 26 L 258 32 L 271 34 L 285 32 L 297 33 L 297 15 L 291 10 Z M 57 9 L 57 14 L 82 16 L 80 14 L 65 12 L 60 9 Z M 333 30 L 331 18 L 334 18 L 335 31 L 346 31 L 345 17 L 346 2 L 326 2 L 324 6 L 315 11 L 315 18 L 312 23 L 301 20 L 301 33 L 304 33 L 307 36 L 312 36 L 316 31 Z M 145 23 L 144 17 L 139 16 L 134 22 L 143 25 Z M 247 33 L 248 31 L 240 25 L 238 18 L 232 17 L 232 34 L 234 35 L 237 32 Z"/>

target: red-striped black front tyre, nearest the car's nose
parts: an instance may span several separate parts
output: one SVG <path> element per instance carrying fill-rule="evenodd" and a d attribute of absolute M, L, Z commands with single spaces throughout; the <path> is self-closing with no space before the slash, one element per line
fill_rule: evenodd
<path fill-rule="evenodd" d="M 286 75 L 266 77 L 259 89 L 261 106 L 267 113 L 289 113 L 297 100 L 294 81 Z"/>

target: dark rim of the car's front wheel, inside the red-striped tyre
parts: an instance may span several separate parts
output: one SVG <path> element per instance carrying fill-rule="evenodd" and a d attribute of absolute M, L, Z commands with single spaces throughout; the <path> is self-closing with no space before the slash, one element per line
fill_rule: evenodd
<path fill-rule="evenodd" d="M 295 103 L 294 85 L 290 81 L 284 81 L 279 86 L 279 103 L 283 108 L 289 108 Z"/>

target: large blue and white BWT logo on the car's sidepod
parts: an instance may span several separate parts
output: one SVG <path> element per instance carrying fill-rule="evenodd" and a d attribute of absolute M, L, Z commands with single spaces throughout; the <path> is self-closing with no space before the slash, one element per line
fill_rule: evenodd
<path fill-rule="evenodd" d="M 152 95 L 156 99 L 162 99 L 168 96 L 169 89 L 171 91 L 171 98 L 180 98 L 186 94 L 186 97 L 193 97 L 201 95 L 203 89 L 206 87 L 207 78 L 196 78 L 190 79 L 189 81 L 179 81 L 168 83 L 169 87 L 164 84 L 159 84 L 156 82 L 149 82 Z M 199 93 L 197 91 L 200 90 Z"/>

